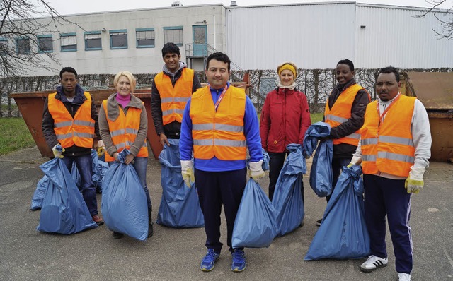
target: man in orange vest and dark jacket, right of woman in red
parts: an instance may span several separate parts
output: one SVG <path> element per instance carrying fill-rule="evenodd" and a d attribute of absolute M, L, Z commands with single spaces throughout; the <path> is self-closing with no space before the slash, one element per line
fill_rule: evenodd
<path fill-rule="evenodd" d="M 340 177 L 343 166 L 347 166 L 355 153 L 359 142 L 357 130 L 363 125 L 365 108 L 371 101 L 365 88 L 355 83 L 354 64 L 349 59 L 338 61 L 336 67 L 338 85 L 333 88 L 326 102 L 324 119 L 331 125 L 331 134 L 328 138 L 333 140 L 332 172 L 333 186 Z M 327 196 L 327 202 L 331 196 Z M 321 220 L 316 222 L 321 225 Z"/>

